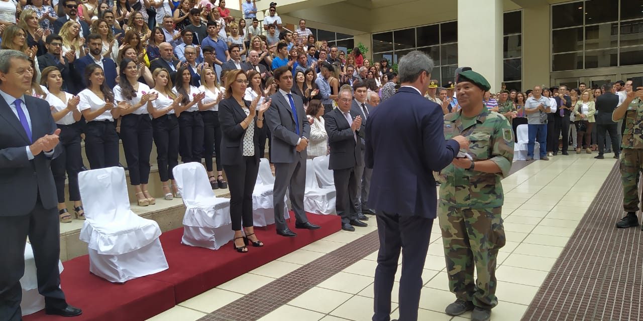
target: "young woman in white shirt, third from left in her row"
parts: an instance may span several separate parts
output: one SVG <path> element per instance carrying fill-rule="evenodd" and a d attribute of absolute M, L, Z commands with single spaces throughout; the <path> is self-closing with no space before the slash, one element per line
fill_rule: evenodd
<path fill-rule="evenodd" d="M 157 94 L 150 87 L 138 82 L 138 65 L 125 58 L 120 62 L 120 82 L 114 87 L 114 100 L 120 105 L 123 152 L 129 170 L 130 184 L 134 186 L 139 206 L 156 204 L 147 190 L 150 177 L 150 153 L 152 152 L 152 119 L 148 107 Z"/>

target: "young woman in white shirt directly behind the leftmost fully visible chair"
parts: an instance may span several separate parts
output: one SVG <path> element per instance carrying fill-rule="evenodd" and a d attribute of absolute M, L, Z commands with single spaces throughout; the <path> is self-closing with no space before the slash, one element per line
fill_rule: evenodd
<path fill-rule="evenodd" d="M 91 169 L 118 166 L 118 134 L 114 119 L 120 116 L 114 108 L 114 93 L 105 85 L 100 65 L 85 68 L 87 89 L 78 92 L 78 110 L 85 117 L 85 153 Z"/>

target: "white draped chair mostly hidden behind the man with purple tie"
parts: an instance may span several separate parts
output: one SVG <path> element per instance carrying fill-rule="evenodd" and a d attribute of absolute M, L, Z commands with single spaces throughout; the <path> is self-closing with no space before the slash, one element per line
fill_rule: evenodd
<path fill-rule="evenodd" d="M 62 273 L 63 268 L 60 261 L 58 261 L 58 270 Z M 33 260 L 33 249 L 30 243 L 24 247 L 24 274 L 20 278 L 20 285 L 23 288 L 23 300 L 20 302 L 23 316 L 44 309 L 44 297 L 38 293 L 36 263 Z"/>

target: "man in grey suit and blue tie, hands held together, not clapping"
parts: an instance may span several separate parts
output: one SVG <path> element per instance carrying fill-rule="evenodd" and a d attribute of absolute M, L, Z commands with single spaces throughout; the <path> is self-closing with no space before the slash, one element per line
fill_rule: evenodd
<path fill-rule="evenodd" d="M 311 133 L 311 125 L 303 109 L 303 101 L 291 94 L 293 73 L 285 65 L 275 69 L 275 82 L 279 90 L 270 96 L 273 100 L 266 111 L 266 122 L 273 135 L 271 161 L 275 164 L 275 224 L 277 234 L 296 236 L 284 220 L 284 196 L 290 190 L 296 229 L 319 229 L 308 221 L 303 211 L 303 193 L 306 185 L 306 146 Z"/>

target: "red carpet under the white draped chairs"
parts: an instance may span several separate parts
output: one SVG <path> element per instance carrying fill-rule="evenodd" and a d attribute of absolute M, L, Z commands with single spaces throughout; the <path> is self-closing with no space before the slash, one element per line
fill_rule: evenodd
<path fill-rule="evenodd" d="M 69 304 L 83 309 L 83 315 L 73 318 L 73 321 L 138 321 L 154 317 L 179 302 L 325 238 L 341 227 L 341 220 L 336 215 L 308 213 L 308 218 L 321 229 L 294 229 L 294 220 L 291 220 L 289 225 L 297 233 L 296 238 L 278 236 L 275 225 L 255 228 L 257 238 L 265 246 L 249 247 L 246 254 L 235 251 L 230 243 L 216 251 L 181 245 L 183 228 L 170 230 L 161 235 L 170 268 L 125 284 L 113 284 L 89 273 L 88 256 L 66 261 L 60 275 L 62 289 Z M 72 321 L 45 315 L 44 311 L 28 315 L 24 320 Z"/>

